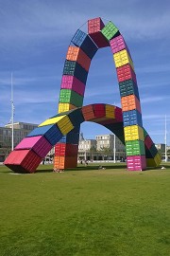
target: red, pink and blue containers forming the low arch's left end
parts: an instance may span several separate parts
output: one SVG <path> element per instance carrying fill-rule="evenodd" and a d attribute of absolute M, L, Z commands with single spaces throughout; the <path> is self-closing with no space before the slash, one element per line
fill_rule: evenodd
<path fill-rule="evenodd" d="M 14 172 L 34 173 L 60 137 L 62 134 L 56 124 L 38 127 L 15 147 L 4 163 Z"/>

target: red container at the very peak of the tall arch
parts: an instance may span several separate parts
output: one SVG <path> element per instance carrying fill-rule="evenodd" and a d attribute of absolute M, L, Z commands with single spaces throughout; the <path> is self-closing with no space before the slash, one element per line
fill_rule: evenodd
<path fill-rule="evenodd" d="M 110 43 L 101 33 L 101 29 L 105 27 L 101 18 L 95 18 L 88 21 L 88 33 L 89 36 L 93 39 L 95 45 L 99 48 L 110 46 Z"/>

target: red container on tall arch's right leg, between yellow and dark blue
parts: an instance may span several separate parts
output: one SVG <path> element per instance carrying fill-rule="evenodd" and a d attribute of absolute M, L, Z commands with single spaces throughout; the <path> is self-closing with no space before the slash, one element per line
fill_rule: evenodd
<path fill-rule="evenodd" d="M 117 67 L 116 71 L 117 71 L 118 82 L 124 82 L 126 80 L 131 79 L 135 83 L 137 83 L 136 74 L 133 71 L 133 69 L 131 68 L 130 64 L 125 64 L 125 65 L 122 65 L 120 67 Z"/>

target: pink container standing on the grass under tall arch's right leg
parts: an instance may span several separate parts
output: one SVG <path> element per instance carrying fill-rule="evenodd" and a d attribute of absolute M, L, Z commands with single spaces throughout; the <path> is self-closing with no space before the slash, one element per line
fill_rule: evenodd
<path fill-rule="evenodd" d="M 142 171 L 146 169 L 145 155 L 127 156 L 128 171 Z"/>

